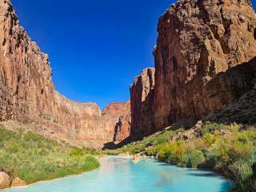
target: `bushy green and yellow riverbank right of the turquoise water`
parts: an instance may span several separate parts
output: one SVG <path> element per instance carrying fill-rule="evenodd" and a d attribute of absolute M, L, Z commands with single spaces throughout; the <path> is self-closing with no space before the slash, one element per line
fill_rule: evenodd
<path fill-rule="evenodd" d="M 146 154 L 181 167 L 213 170 L 235 182 L 233 191 L 256 188 L 254 126 L 198 123 L 191 130 L 165 130 L 106 153 Z"/>

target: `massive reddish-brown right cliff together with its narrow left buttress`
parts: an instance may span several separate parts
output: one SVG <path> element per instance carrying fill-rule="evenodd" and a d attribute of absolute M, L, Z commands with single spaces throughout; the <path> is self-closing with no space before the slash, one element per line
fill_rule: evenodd
<path fill-rule="evenodd" d="M 190 125 L 207 115 L 214 121 L 252 122 L 255 31 L 256 14 L 247 0 L 171 5 L 158 22 L 154 75 L 144 70 L 130 88 L 131 137 L 175 122 Z"/>

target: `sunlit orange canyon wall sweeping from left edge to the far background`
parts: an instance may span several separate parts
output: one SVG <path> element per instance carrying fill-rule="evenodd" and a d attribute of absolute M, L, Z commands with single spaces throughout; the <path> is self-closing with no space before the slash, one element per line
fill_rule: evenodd
<path fill-rule="evenodd" d="M 129 114 L 130 104 L 102 114 L 95 103 L 58 94 L 48 56 L 19 26 L 10 1 L 0 0 L 0 29 L 0 121 L 35 122 L 42 127 L 32 130 L 77 146 L 102 147 L 113 141 L 119 116 Z"/>

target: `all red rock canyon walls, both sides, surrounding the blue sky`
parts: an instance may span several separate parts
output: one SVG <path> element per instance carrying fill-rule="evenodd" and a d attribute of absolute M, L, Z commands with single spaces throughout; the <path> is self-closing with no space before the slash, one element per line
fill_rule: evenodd
<path fill-rule="evenodd" d="M 93 148 L 175 122 L 255 122 L 256 14 L 249 0 L 171 5 L 158 21 L 154 67 L 134 78 L 130 101 L 102 111 L 55 90 L 48 55 L 19 25 L 9 0 L 0 2 L 0 28 L 1 122 L 27 123 L 48 138 Z"/>

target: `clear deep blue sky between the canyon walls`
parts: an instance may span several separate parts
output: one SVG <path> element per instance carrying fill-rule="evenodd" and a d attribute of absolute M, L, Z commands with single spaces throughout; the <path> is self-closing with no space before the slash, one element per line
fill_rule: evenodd
<path fill-rule="evenodd" d="M 158 18 L 172 2 L 12 0 L 21 25 L 50 56 L 56 89 L 101 108 L 126 102 L 134 77 L 154 66 Z"/>

